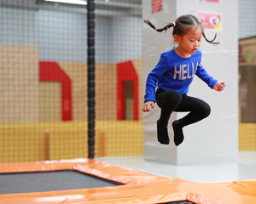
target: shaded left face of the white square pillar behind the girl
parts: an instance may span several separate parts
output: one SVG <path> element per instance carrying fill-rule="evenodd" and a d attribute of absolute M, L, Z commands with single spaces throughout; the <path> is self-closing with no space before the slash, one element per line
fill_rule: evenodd
<path fill-rule="evenodd" d="M 176 19 L 176 0 L 163 1 L 163 10 L 151 14 L 151 1 L 143 0 L 143 20 L 150 20 L 156 27 L 166 25 Z M 159 33 L 148 25 L 143 24 L 143 90 L 148 73 L 160 59 L 160 54 L 172 48 L 172 34 L 170 31 Z M 160 116 L 160 109 L 155 105 L 154 111 L 143 114 L 143 149 L 146 160 L 170 163 L 176 161 L 177 152 L 172 145 L 157 142 L 156 120 Z M 171 120 L 176 117 L 172 114 Z M 171 130 L 171 127 L 169 127 Z M 172 137 L 170 131 L 169 135 Z M 172 162 L 171 162 L 172 163 Z"/>

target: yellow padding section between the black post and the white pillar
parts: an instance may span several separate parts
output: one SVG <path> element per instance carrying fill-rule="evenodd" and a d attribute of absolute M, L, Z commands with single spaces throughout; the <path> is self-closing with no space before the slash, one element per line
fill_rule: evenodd
<path fill-rule="evenodd" d="M 96 122 L 96 147 L 96 156 L 143 156 L 143 122 Z"/>

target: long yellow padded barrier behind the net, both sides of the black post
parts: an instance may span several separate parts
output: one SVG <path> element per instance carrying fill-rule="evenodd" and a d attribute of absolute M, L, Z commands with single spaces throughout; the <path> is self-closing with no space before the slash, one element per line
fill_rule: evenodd
<path fill-rule="evenodd" d="M 0 162 L 87 157 L 87 122 L 1 124 Z M 96 122 L 97 156 L 142 156 L 143 122 Z"/>

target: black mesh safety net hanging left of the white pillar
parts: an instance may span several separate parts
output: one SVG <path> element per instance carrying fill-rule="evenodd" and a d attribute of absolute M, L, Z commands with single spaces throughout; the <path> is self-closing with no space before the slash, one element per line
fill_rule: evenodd
<path fill-rule="evenodd" d="M 0 162 L 88 156 L 80 3 L 1 1 Z M 95 156 L 142 156 L 141 3 L 97 1 L 94 14 Z"/>

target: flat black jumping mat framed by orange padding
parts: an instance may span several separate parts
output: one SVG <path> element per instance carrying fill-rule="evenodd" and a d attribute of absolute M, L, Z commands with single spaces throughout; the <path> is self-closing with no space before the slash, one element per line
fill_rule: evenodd
<path fill-rule="evenodd" d="M 73 170 L 0 174 L 0 194 L 74 190 L 116 186 L 119 183 Z M 26 188 L 24 187 L 26 184 Z"/>

